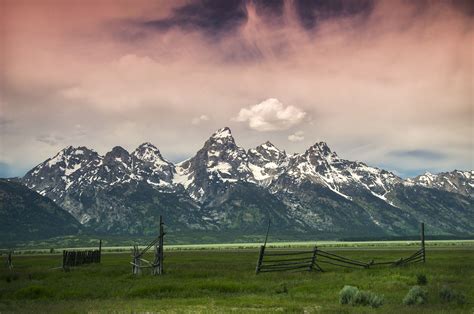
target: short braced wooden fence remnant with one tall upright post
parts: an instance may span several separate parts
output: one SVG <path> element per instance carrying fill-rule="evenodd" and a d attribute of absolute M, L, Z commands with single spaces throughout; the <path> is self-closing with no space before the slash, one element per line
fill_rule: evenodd
<path fill-rule="evenodd" d="M 138 245 L 134 245 L 132 249 L 132 273 L 134 275 L 140 275 L 142 269 L 150 268 L 152 275 L 162 275 L 163 274 L 163 244 L 164 244 L 164 228 L 163 228 L 163 217 L 160 216 L 160 235 L 151 241 L 142 251 L 138 248 Z M 155 258 L 153 262 L 150 262 L 143 258 L 146 252 L 152 247 L 155 248 Z"/>

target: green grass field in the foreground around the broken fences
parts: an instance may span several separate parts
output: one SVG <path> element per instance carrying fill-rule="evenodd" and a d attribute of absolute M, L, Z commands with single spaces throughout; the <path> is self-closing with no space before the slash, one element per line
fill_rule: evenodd
<path fill-rule="evenodd" d="M 358 260 L 395 260 L 416 248 L 344 249 Z M 0 272 L 0 312 L 296 312 L 296 313 L 473 313 L 473 247 L 427 249 L 427 263 L 402 268 L 341 269 L 326 272 L 255 275 L 256 249 L 169 250 L 166 274 L 131 275 L 129 253 L 104 254 L 102 264 L 60 266 L 60 255 L 14 256 L 14 271 Z M 151 259 L 151 257 L 150 257 Z M 425 274 L 427 303 L 405 306 L 402 299 Z M 340 305 L 344 285 L 384 295 L 378 309 Z M 443 285 L 465 295 L 464 304 L 444 303 Z"/>

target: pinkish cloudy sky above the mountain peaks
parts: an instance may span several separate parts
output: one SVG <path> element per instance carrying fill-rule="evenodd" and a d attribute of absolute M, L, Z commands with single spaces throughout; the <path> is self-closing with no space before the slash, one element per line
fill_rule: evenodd
<path fill-rule="evenodd" d="M 325 141 L 402 176 L 473 167 L 470 1 L 0 0 L 0 177 L 62 148 Z"/>

